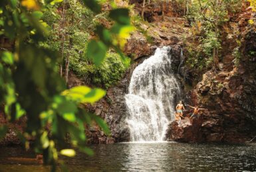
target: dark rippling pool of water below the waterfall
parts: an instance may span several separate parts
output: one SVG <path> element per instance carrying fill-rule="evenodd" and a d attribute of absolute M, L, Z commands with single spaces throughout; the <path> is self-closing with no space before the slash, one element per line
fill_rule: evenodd
<path fill-rule="evenodd" d="M 256 171 L 256 144 L 110 144 L 92 146 L 68 160 L 70 171 Z M 0 171 L 49 171 L 49 167 L 6 161 L 35 157 L 21 148 L 0 148 Z"/>

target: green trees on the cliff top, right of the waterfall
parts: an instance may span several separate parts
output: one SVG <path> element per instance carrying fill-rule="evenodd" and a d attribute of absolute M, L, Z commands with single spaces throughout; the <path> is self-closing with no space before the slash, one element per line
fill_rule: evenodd
<path fill-rule="evenodd" d="M 200 68 L 218 69 L 221 26 L 229 21 L 229 13 L 237 13 L 241 7 L 240 0 L 191 1 L 187 17 L 192 24 L 192 34 L 200 44 L 189 51 L 191 58 L 188 64 L 198 62 Z"/>

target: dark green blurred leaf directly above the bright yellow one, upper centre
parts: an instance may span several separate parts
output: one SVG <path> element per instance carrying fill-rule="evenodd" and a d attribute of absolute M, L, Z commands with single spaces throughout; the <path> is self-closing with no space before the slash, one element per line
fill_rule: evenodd
<path fill-rule="evenodd" d="M 109 13 L 109 17 L 119 24 L 130 24 L 129 10 L 128 9 L 113 9 Z"/>

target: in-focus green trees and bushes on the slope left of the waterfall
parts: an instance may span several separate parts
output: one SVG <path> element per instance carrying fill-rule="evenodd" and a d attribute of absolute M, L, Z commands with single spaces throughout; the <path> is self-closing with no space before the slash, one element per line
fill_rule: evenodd
<path fill-rule="evenodd" d="M 107 58 L 100 66 L 89 62 L 86 46 L 90 34 L 102 20 L 110 22 L 105 13 L 94 16 L 80 1 L 70 0 L 47 6 L 43 21 L 49 24 L 51 33 L 41 46 L 61 54 L 61 75 L 66 83 L 71 70 L 85 83 L 108 88 L 122 77 L 128 67 L 130 61 L 127 58 L 121 61 L 120 56 L 113 52 L 106 54 Z"/>

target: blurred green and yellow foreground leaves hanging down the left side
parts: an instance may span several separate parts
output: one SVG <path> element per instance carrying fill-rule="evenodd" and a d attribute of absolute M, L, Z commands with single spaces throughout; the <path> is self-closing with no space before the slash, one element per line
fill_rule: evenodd
<path fill-rule="evenodd" d="M 79 50 L 87 49 L 86 52 L 84 51 L 86 57 L 100 67 L 108 49 L 111 48 L 116 50 L 120 54 L 120 60 L 127 64 L 129 60 L 122 55 L 121 49 L 128 33 L 132 30 L 128 10 L 112 9 L 108 15 L 109 19 L 114 21 L 112 28 L 96 26 L 98 36 L 90 40 L 88 48 L 84 48 L 82 43 L 76 43 L 88 39 L 86 30 L 82 29 L 85 23 L 77 24 L 78 19 L 92 17 L 92 12 L 88 9 L 83 10 L 84 4 L 94 14 L 101 13 L 100 5 L 92 0 L 68 1 L 68 4 L 67 1 L 63 1 L 59 5 L 56 4 L 60 2 L 62 1 L 22 0 L 20 3 L 17 0 L 3 0 L 0 2 L 1 39 L 7 38 L 14 44 L 13 49 L 1 51 L 0 102 L 5 107 L 5 114 L 10 122 L 26 114 L 25 132 L 17 132 L 17 134 L 26 148 L 29 148 L 28 140 L 34 138 L 34 150 L 43 153 L 44 162 L 53 165 L 53 169 L 57 164 L 59 153 L 67 156 L 75 155 L 75 151 L 69 149 L 70 146 L 92 154 L 92 151 L 86 147 L 84 134 L 86 126 L 90 125 L 92 120 L 109 134 L 104 120 L 86 112 L 83 108 L 84 103 L 94 103 L 102 98 L 105 91 L 86 86 L 66 89 L 66 84 L 60 75 L 64 57 L 65 62 L 68 62 L 66 59 L 69 56 L 79 53 Z M 66 5 L 79 5 L 78 8 L 82 10 L 67 11 L 66 13 L 70 13 L 68 15 L 71 16 L 68 19 L 64 19 L 63 12 L 60 12 L 62 17 L 58 20 L 60 17 L 58 11 L 65 9 Z M 44 13 L 45 18 L 42 18 Z M 49 13 L 56 15 L 57 18 L 46 17 Z M 61 21 L 61 24 L 58 21 Z M 49 31 L 47 23 L 50 27 L 51 24 L 53 26 L 56 23 L 56 30 Z M 74 26 L 74 23 L 81 28 Z M 58 29 L 59 32 L 56 32 Z M 68 48 L 69 46 L 72 48 Z M 0 126 L 0 138 L 3 138 L 6 132 L 7 126 Z"/>

